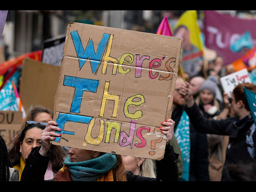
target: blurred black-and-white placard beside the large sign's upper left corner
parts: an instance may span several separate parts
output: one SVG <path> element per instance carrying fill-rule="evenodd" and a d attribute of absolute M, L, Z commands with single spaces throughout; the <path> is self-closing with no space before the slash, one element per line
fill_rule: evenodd
<path fill-rule="evenodd" d="M 60 66 L 63 57 L 63 50 L 66 35 L 47 39 L 44 41 L 42 62 Z"/>

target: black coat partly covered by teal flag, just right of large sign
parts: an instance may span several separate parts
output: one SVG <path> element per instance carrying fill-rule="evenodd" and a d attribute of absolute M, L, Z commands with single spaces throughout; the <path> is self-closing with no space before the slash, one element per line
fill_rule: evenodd
<path fill-rule="evenodd" d="M 185 106 L 177 106 L 172 112 L 174 131 L 180 121 Z M 195 125 L 196 126 L 196 125 Z M 209 181 L 208 143 L 206 134 L 197 132 L 190 120 L 190 170 L 189 181 Z"/>

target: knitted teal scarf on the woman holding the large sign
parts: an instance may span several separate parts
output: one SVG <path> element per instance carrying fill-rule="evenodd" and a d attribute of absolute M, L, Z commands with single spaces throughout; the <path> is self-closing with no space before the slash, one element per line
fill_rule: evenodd
<path fill-rule="evenodd" d="M 106 153 L 83 162 L 70 162 L 68 156 L 63 164 L 68 167 L 73 181 L 95 181 L 113 168 L 116 164 L 116 155 Z"/>

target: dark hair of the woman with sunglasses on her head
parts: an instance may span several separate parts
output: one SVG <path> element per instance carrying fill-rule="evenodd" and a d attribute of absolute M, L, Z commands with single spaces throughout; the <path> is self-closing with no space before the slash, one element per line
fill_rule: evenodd
<path fill-rule="evenodd" d="M 34 127 L 40 128 L 42 130 L 44 130 L 44 128 L 45 128 L 45 126 L 43 126 L 39 123 L 27 124 L 26 127 L 22 130 L 22 132 L 15 137 L 12 147 L 9 150 L 9 158 L 10 158 L 10 161 L 13 166 L 20 164 L 20 157 L 21 157 L 20 143 L 23 142 L 26 132 Z"/>

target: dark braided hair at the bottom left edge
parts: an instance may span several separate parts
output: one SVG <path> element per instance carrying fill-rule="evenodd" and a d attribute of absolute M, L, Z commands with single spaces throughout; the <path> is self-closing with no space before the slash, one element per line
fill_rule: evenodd
<path fill-rule="evenodd" d="M 0 157 L 0 181 L 8 181 L 10 177 L 9 168 L 13 166 L 8 157 L 8 150 L 2 136 L 0 136 Z"/>

